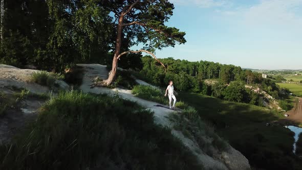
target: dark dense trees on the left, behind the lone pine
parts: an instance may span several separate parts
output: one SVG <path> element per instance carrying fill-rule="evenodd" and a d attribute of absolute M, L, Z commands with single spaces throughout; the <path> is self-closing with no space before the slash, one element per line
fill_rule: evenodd
<path fill-rule="evenodd" d="M 4 9 L 0 63 L 61 72 L 79 62 L 112 62 L 116 28 L 100 1 L 16 0 L 4 1 Z M 127 36 L 123 50 L 132 46 Z M 138 58 L 128 54 L 121 66 Z"/>

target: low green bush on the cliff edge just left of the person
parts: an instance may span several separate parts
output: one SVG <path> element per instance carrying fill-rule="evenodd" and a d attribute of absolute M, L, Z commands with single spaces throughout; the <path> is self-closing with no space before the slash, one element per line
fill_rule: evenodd
<path fill-rule="evenodd" d="M 138 85 L 134 86 L 132 94 L 150 101 L 155 101 L 161 104 L 168 104 L 162 91 L 150 86 Z"/>

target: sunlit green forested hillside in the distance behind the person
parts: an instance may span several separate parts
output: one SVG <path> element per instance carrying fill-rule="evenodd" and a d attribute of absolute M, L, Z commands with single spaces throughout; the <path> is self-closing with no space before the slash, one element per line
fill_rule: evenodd
<path fill-rule="evenodd" d="M 167 86 L 169 80 L 173 80 L 175 88 L 179 91 L 192 91 L 255 105 L 262 104 L 261 94 L 246 88 L 246 84 L 257 84 L 274 98 L 285 97 L 273 80 L 264 79 L 260 73 L 242 70 L 241 67 L 173 58 L 163 58 L 161 61 L 166 65 L 166 72 L 152 57 L 144 56 L 143 68 L 140 71 L 140 75 L 143 75 L 141 78 L 162 87 Z"/>

